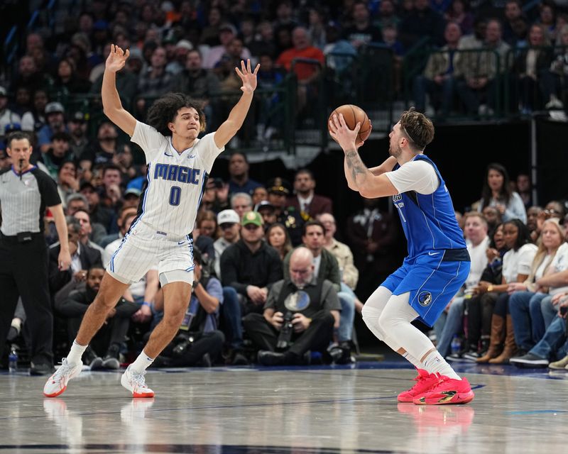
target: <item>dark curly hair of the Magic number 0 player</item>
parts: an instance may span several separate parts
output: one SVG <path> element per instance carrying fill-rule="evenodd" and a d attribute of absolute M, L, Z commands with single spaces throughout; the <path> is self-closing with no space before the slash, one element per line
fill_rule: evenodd
<path fill-rule="evenodd" d="M 205 131 L 205 114 L 202 104 L 183 93 L 167 93 L 156 99 L 148 110 L 148 125 L 153 126 L 162 135 L 172 135 L 168 123 L 173 123 L 178 111 L 192 107 L 200 115 L 200 131 Z"/>

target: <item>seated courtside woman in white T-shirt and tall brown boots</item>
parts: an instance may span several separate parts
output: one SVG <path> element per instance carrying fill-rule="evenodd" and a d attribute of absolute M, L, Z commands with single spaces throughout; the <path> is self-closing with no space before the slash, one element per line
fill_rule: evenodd
<path fill-rule="evenodd" d="M 501 284 L 479 282 L 479 287 L 485 292 L 497 292 L 499 296 L 493 308 L 491 318 L 491 341 L 487 353 L 476 362 L 491 362 L 492 364 L 507 363 L 515 354 L 515 334 L 513 319 L 508 311 L 510 294 L 515 291 L 517 284 L 525 282 L 531 275 L 532 264 L 537 255 L 537 246 L 530 241 L 530 231 L 518 219 L 503 223 L 503 235 L 509 250 L 503 255 L 503 277 Z M 537 266 L 538 268 L 538 266 Z M 532 280 L 532 279 L 531 279 Z M 505 343 L 501 355 L 501 339 L 506 332 Z"/>

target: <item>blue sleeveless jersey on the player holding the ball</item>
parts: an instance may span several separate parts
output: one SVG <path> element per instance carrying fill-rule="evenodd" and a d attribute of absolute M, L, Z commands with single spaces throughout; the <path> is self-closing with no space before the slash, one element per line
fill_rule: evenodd
<path fill-rule="evenodd" d="M 408 258 L 429 251 L 466 248 L 464 232 L 458 226 L 452 198 L 442 175 L 429 157 L 417 155 L 415 160 L 425 160 L 434 167 L 439 186 L 432 194 L 408 191 L 393 196 L 408 241 Z M 398 167 L 397 164 L 393 170 Z"/>

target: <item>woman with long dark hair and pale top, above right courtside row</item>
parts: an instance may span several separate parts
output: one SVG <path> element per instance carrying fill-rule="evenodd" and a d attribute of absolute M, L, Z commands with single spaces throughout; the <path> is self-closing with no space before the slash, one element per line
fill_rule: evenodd
<path fill-rule="evenodd" d="M 509 183 L 509 175 L 503 165 L 497 162 L 488 165 L 477 211 L 483 211 L 486 206 L 495 206 L 501 213 L 503 222 L 520 219 L 523 223 L 527 223 L 523 199 L 517 192 L 510 190 Z"/>

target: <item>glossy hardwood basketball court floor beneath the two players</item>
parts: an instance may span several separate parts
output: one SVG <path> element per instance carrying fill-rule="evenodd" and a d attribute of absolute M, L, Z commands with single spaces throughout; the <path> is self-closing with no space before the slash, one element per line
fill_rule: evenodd
<path fill-rule="evenodd" d="M 464 406 L 398 404 L 415 371 L 356 366 L 149 370 L 154 399 L 118 372 L 82 372 L 44 399 L 45 377 L 0 375 L 0 453 L 566 453 L 568 371 L 457 368 Z"/>

